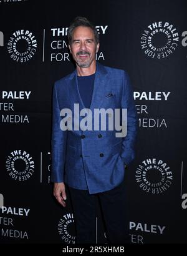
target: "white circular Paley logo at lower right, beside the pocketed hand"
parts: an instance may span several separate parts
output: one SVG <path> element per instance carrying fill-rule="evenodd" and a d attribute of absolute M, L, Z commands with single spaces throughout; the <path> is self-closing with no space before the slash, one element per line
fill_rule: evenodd
<path fill-rule="evenodd" d="M 173 174 L 170 167 L 163 161 L 146 159 L 138 165 L 135 174 L 140 188 L 150 194 L 161 194 L 172 184 Z"/>

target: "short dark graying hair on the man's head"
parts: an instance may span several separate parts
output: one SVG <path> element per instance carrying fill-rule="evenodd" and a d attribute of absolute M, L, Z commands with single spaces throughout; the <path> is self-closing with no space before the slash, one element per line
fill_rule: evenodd
<path fill-rule="evenodd" d="M 79 26 L 90 27 L 90 29 L 92 29 L 92 31 L 93 31 L 93 34 L 95 37 L 95 42 L 98 44 L 99 34 L 97 32 L 97 29 L 95 29 L 95 26 L 86 17 L 80 17 L 80 16 L 75 17 L 74 21 L 71 22 L 71 24 L 68 28 L 67 38 L 68 38 L 69 44 L 71 44 L 71 42 L 72 42 L 72 36 L 73 36 L 74 29 Z"/>

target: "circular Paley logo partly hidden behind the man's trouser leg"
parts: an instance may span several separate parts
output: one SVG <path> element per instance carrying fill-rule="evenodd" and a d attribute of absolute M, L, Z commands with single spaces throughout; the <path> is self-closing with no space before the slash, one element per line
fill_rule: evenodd
<path fill-rule="evenodd" d="M 75 244 L 74 215 L 65 214 L 58 224 L 60 239 L 66 244 Z"/>

